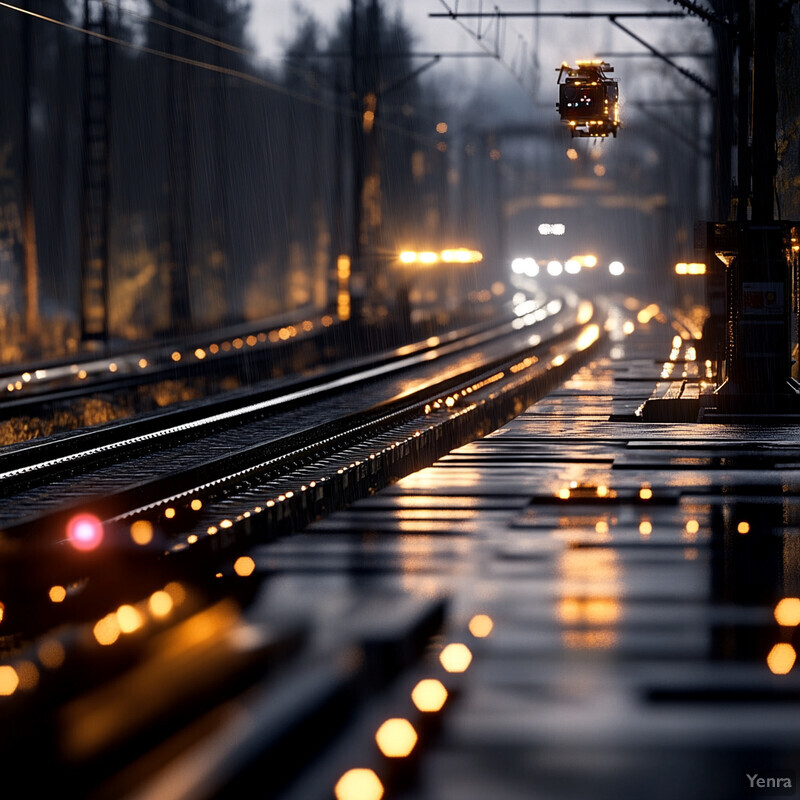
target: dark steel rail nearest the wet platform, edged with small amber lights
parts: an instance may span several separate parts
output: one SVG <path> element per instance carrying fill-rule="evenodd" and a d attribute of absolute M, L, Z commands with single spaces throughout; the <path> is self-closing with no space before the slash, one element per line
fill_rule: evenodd
<path fill-rule="evenodd" d="M 336 483 L 336 475 L 343 474 L 338 470 L 344 469 L 346 472 L 354 464 L 361 465 L 360 459 L 355 456 L 351 459 L 345 454 L 367 447 L 372 452 L 363 458 L 369 462 L 376 457 L 374 444 L 371 444 L 376 437 L 385 436 L 408 424 L 413 427 L 420 419 L 426 420 L 434 408 L 444 408 L 445 394 L 466 398 L 474 387 L 491 384 L 497 375 L 507 371 L 509 365 L 519 363 L 521 358 L 527 357 L 529 363 L 525 362 L 526 367 L 539 361 L 547 363 L 548 353 L 553 347 L 561 346 L 563 349 L 564 342 L 575 338 L 574 320 L 571 325 L 564 325 L 564 331 L 538 347 L 532 347 L 527 342 L 529 334 L 521 336 L 516 346 L 500 358 L 481 361 L 466 370 L 451 369 L 442 380 L 423 381 L 413 391 L 401 392 L 393 398 L 342 417 L 335 423 L 310 426 L 272 441 L 255 444 L 246 450 L 209 458 L 204 463 L 175 474 L 137 483 L 95 500 L 76 500 L 70 506 L 7 526 L 0 544 L 4 555 L 1 571 L 8 594 L 26 596 L 27 610 L 23 616 L 33 620 L 28 622 L 26 619 L 26 624 L 37 627 L 41 624 L 41 620 L 37 619 L 39 615 L 47 616 L 52 611 L 46 598 L 48 588 L 54 584 L 70 585 L 85 580 L 87 576 L 92 579 L 99 577 L 98 587 L 102 592 L 98 592 L 97 602 L 107 602 L 100 595 L 109 591 L 103 574 L 110 564 L 128 560 L 131 569 L 136 564 L 148 564 L 142 573 L 144 577 L 140 575 L 132 580 L 131 586 L 117 587 L 116 591 L 126 594 L 132 588 L 139 587 L 142 580 L 148 585 L 152 580 L 159 580 L 163 572 L 161 562 L 165 556 L 171 561 L 169 569 L 188 568 L 196 572 L 198 559 L 218 559 L 223 550 L 236 547 L 244 541 L 247 535 L 242 537 L 241 533 L 249 530 L 249 526 L 245 525 L 238 526 L 238 530 L 226 531 L 223 519 L 220 527 L 211 531 L 209 514 L 216 515 L 219 521 L 224 516 L 224 512 L 221 514 L 219 511 L 219 505 L 224 504 L 226 498 L 252 496 L 253 493 L 265 498 L 269 497 L 270 492 L 274 493 L 275 501 L 265 499 L 264 508 L 274 507 L 287 499 L 286 494 L 281 495 L 275 487 L 304 470 L 313 470 L 320 475 L 318 487 L 311 478 L 306 483 L 300 480 L 296 487 L 298 495 L 305 492 L 309 484 L 312 490 L 316 490 L 308 494 L 312 498 L 311 513 L 319 513 L 321 506 L 316 503 L 317 500 L 325 507 L 339 505 L 341 497 L 329 494 L 329 488 Z M 427 354 L 422 353 L 421 356 L 426 358 Z M 348 382 L 348 385 L 352 384 Z M 450 418 L 449 412 L 444 413 L 443 424 Z M 407 438 L 415 435 L 412 433 Z M 385 458 L 388 450 L 392 449 L 391 445 L 378 448 L 377 455 Z M 330 462 L 331 459 L 344 461 L 333 475 L 326 476 L 326 470 L 330 473 L 330 468 L 324 466 L 323 462 Z M 359 463 L 356 464 L 356 461 Z M 334 480 L 325 486 L 331 478 Z M 288 491 L 289 499 L 293 494 L 291 490 Z M 197 510 L 191 510 L 193 500 L 200 501 Z M 286 508 L 290 505 L 287 504 Z M 166 511 L 168 508 L 170 513 Z M 199 509 L 202 509 L 202 513 Z M 231 529 L 235 527 L 234 522 L 238 524 L 250 516 L 244 506 L 239 511 L 242 513 L 229 515 L 234 518 L 229 522 Z M 69 519 L 77 512 L 94 514 L 103 521 L 106 535 L 103 547 L 96 554 L 76 552 L 66 541 L 64 531 Z M 278 516 L 274 517 L 274 514 Z M 262 522 L 276 533 L 285 532 L 286 518 L 281 516 L 280 509 L 274 514 L 265 514 Z M 274 517 L 271 525 L 268 523 L 270 516 Z M 297 519 L 302 516 L 297 516 Z M 141 520 L 146 520 L 154 531 L 152 542 L 147 547 L 136 545 L 130 536 L 131 523 Z M 221 535 L 216 536 L 217 533 Z M 187 540 L 193 542 L 188 549 Z M 151 573 L 149 577 L 148 572 Z M 113 591 L 111 593 L 114 594 Z M 89 594 L 84 596 L 82 602 L 86 601 Z M 33 597 L 38 600 L 34 602 Z M 89 602 L 88 607 L 96 611 L 94 602 Z M 11 624 L 13 611 L 15 609 L 9 605 L 8 622 Z"/>

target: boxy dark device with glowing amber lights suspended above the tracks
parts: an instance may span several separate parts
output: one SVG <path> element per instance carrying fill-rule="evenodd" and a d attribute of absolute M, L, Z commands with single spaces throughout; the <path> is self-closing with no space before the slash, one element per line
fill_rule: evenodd
<path fill-rule="evenodd" d="M 620 126 L 619 84 L 608 77 L 613 71 L 606 61 L 578 61 L 574 67 L 564 63 L 556 69 L 556 109 L 573 138 L 616 137 Z"/>

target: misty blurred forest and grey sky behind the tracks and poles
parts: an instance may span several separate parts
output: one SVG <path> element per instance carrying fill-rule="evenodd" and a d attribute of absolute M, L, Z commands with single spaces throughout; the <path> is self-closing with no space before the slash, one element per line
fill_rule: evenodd
<path fill-rule="evenodd" d="M 674 9 L 658 0 L 635 5 Z M 632 7 L 571 4 L 622 6 Z M 86 25 L 84 4 L 20 7 L 48 19 L 0 9 L 6 362 L 81 346 L 86 35 L 75 28 Z M 415 302 L 469 302 L 507 282 L 514 257 L 577 252 L 597 253 L 603 267 L 624 261 L 631 291 L 669 287 L 677 297 L 672 265 L 692 258 L 694 221 L 714 213 L 708 95 L 655 58 L 615 58 L 642 48 L 604 20 L 479 27 L 428 18 L 444 10 L 438 0 L 365 0 L 356 9 L 354 71 L 350 3 L 92 0 L 88 8 L 95 19 L 105 9 L 111 39 L 107 261 L 115 341 L 331 310 L 337 257 L 353 253 L 358 230 L 374 260 L 371 308 L 379 316 L 392 313 L 407 280 L 397 265 L 403 249 L 484 254 L 478 265 L 414 276 Z M 634 25 L 654 46 L 699 54 L 681 63 L 713 83 L 708 26 Z M 782 47 L 796 75 L 793 42 L 787 36 Z M 616 139 L 571 140 L 555 111 L 554 70 L 600 54 L 620 81 L 623 128 Z M 357 95 L 376 95 L 368 147 L 357 133 L 354 81 Z M 784 214 L 796 216 L 798 171 L 786 165 L 800 160 L 797 102 L 786 92 L 781 99 L 780 189 Z M 362 179 L 359 203 L 354 187 Z M 542 222 L 564 223 L 567 234 L 545 241 Z"/>

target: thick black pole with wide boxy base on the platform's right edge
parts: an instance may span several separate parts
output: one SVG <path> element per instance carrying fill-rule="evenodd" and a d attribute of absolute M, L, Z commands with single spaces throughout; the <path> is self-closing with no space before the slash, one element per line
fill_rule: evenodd
<path fill-rule="evenodd" d="M 800 414 L 800 385 L 791 375 L 789 229 L 774 215 L 781 10 L 773 0 L 752 8 L 751 18 L 750 0 L 739 0 L 738 244 L 727 276 L 726 380 L 716 394 L 725 415 L 770 419 Z"/>

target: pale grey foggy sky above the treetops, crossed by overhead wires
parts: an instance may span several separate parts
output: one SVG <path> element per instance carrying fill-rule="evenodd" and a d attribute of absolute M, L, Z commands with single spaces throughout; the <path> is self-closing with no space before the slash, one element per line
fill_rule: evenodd
<path fill-rule="evenodd" d="M 252 14 L 250 36 L 262 57 L 280 60 L 284 45 L 291 40 L 297 21 L 295 8 L 299 5 L 312 13 L 326 30 L 331 30 L 340 14 L 350 7 L 349 0 L 251 0 Z M 452 8 L 454 0 L 447 0 Z M 484 2 L 484 10 L 495 4 Z M 496 5 L 503 11 L 677 11 L 676 6 L 665 0 L 500 0 Z M 477 11 L 479 0 L 459 0 L 460 11 Z M 458 22 L 448 19 L 432 19 L 432 12 L 444 12 L 445 6 L 440 0 L 383 0 L 385 13 L 394 15 L 400 12 L 405 23 L 416 38 L 417 51 L 446 53 L 450 51 L 473 52 L 481 54 L 481 46 L 468 35 Z M 478 21 L 464 20 L 463 24 L 473 31 L 477 30 Z M 498 42 L 494 23 L 483 22 L 483 33 L 489 25 L 488 35 L 483 44 L 493 50 Z M 637 35 L 650 44 L 661 49 L 690 50 L 693 47 L 704 49 L 703 40 L 708 28 L 697 18 L 685 20 L 647 20 L 631 19 L 624 23 Z M 433 78 L 454 80 L 456 89 L 464 82 L 487 82 L 513 89 L 519 82 L 512 71 L 519 72 L 523 55 L 527 55 L 528 63 L 533 61 L 534 54 L 539 65 L 539 79 L 534 84 L 529 82 L 528 89 L 535 93 L 549 91 L 555 85 L 555 68 L 563 61 L 573 63 L 577 59 L 592 58 L 598 52 L 608 51 L 647 51 L 625 33 L 603 19 L 507 19 L 503 23 L 502 35 L 499 39 L 503 63 L 490 58 L 443 59 L 442 63 L 431 70 L 428 75 Z M 682 66 L 702 72 L 705 64 L 697 59 L 681 59 Z M 513 69 L 510 69 L 513 68 Z M 670 69 L 655 58 L 626 59 L 616 64 L 616 76 L 624 81 L 627 75 L 639 79 L 642 71 L 658 74 L 663 78 Z M 528 72 L 526 71 L 526 76 Z M 669 83 L 674 84 L 676 91 L 690 90 L 691 84 L 674 73 L 669 76 Z M 549 97 L 549 95 L 548 95 Z"/>

